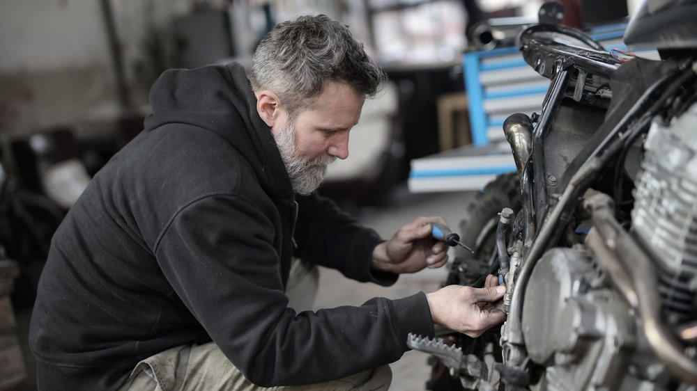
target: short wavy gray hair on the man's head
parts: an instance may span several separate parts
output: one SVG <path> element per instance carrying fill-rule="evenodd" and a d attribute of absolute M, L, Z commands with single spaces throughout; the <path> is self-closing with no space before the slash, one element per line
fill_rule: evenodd
<path fill-rule="evenodd" d="M 249 76 L 255 93 L 272 90 L 291 115 L 312 104 L 328 81 L 374 97 L 385 80 L 348 26 L 326 15 L 277 24 L 256 47 Z"/>

